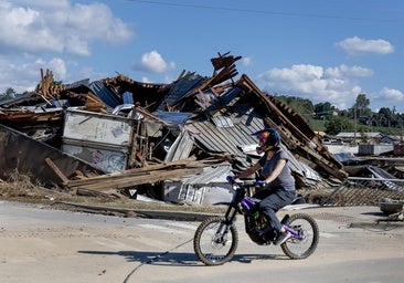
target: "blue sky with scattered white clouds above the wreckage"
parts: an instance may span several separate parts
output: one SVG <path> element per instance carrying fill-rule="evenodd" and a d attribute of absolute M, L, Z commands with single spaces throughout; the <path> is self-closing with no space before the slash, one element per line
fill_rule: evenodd
<path fill-rule="evenodd" d="M 41 67 L 66 84 L 211 76 L 231 52 L 268 93 L 404 113 L 402 0 L 0 0 L 0 93 L 33 90 Z"/>

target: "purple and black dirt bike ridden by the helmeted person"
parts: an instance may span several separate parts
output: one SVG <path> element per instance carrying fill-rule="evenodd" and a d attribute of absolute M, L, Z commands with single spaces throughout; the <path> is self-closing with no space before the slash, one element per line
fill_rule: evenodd
<path fill-rule="evenodd" d="M 258 210 L 261 199 L 248 197 L 249 182 L 228 181 L 234 190 L 231 202 L 223 217 L 209 217 L 198 227 L 193 238 L 193 249 L 205 265 L 221 265 L 232 260 L 238 244 L 235 227 L 236 216 L 244 216 L 245 231 L 251 240 L 258 245 L 272 244 L 276 231 Z M 290 233 L 290 238 L 280 244 L 284 253 L 293 260 L 306 259 L 311 255 L 319 242 L 319 228 L 316 220 L 306 213 L 286 214 L 280 221 Z"/>

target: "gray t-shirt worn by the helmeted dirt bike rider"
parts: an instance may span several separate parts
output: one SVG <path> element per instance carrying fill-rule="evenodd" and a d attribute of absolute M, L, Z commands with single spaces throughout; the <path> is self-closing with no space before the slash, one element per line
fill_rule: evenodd
<path fill-rule="evenodd" d="M 281 169 L 279 176 L 274 181 L 272 181 L 267 188 L 281 187 L 286 190 L 295 190 L 296 189 L 295 178 L 294 176 L 291 176 L 290 168 L 288 166 L 289 158 L 286 151 L 284 151 L 283 149 L 277 150 L 274 154 L 273 158 L 270 158 L 269 160 L 267 159 L 266 154 L 259 158 L 258 163 L 263 167 L 263 169 L 261 170 L 261 175 L 264 178 L 267 178 L 270 175 L 270 172 L 274 171 L 275 166 L 279 159 L 285 159 L 286 165 Z"/>

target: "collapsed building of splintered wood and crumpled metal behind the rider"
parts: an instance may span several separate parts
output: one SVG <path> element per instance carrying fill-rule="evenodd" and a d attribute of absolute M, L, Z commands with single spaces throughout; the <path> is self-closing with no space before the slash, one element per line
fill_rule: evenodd
<path fill-rule="evenodd" d="M 0 178 L 18 169 L 49 187 L 210 205 L 228 198 L 227 175 L 259 158 L 251 134 L 273 127 L 298 191 L 345 184 L 301 116 L 237 77 L 240 59 L 219 54 L 211 76 L 184 71 L 169 84 L 118 74 L 63 85 L 41 71 L 34 92 L 0 102 Z"/>

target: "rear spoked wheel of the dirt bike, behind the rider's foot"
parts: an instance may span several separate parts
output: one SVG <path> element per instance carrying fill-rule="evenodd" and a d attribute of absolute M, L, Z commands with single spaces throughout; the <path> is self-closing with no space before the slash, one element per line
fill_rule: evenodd
<path fill-rule="evenodd" d="M 280 245 L 284 253 L 293 260 L 306 259 L 312 254 L 320 238 L 316 220 L 308 214 L 296 213 L 285 224 L 299 232 L 302 239 L 288 239 Z"/>

